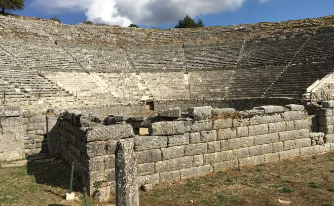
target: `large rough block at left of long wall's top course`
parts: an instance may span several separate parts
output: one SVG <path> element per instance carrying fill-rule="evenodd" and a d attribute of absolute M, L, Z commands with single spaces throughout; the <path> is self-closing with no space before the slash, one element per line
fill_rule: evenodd
<path fill-rule="evenodd" d="M 149 133 L 153 136 L 184 134 L 183 121 L 154 122 L 149 126 Z"/>

